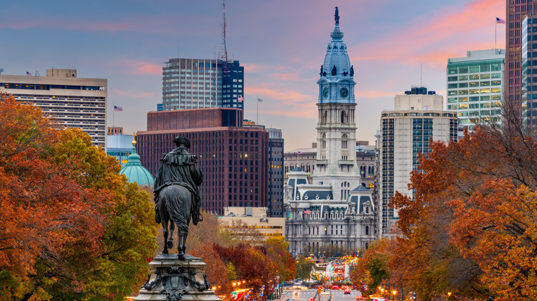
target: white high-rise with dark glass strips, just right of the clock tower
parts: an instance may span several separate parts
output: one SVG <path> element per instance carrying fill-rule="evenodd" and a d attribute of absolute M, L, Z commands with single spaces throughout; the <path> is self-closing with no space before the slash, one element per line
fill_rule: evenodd
<path fill-rule="evenodd" d="M 412 197 L 410 172 L 419 170 L 419 153 L 430 153 L 429 141 L 457 140 L 456 113 L 443 110 L 443 98 L 425 87 L 395 96 L 393 110 L 382 111 L 379 146 L 379 238 L 392 237 L 397 210 L 388 207 L 394 192 Z"/>

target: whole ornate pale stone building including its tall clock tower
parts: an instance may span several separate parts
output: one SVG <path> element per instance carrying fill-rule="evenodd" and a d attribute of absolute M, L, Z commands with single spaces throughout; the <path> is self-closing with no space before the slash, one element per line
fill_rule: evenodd
<path fill-rule="evenodd" d="M 361 185 L 356 161 L 354 67 L 350 65 L 339 12 L 321 67 L 317 108 L 317 158 L 313 183 L 308 172 L 288 172 L 284 192 L 286 239 L 293 254 L 323 245 L 353 251 L 375 239 L 372 192 Z"/>

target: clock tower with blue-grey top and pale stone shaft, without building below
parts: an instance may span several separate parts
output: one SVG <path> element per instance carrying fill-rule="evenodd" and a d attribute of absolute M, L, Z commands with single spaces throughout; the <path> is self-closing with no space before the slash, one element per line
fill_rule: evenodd
<path fill-rule="evenodd" d="M 330 184 L 334 200 L 345 200 L 359 186 L 356 164 L 356 124 L 354 68 L 350 65 L 343 32 L 339 30 L 339 10 L 335 27 L 321 65 L 317 109 L 317 161 L 314 184 Z"/>

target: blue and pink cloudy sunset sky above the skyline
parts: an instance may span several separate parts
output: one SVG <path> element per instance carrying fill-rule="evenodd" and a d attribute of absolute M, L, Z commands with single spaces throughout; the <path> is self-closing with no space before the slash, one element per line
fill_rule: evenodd
<path fill-rule="evenodd" d="M 51 67 L 107 78 L 114 125 L 144 131 L 162 102 L 169 58 L 213 58 L 220 47 L 220 1 L 107 1 L 107 5 L 25 1 L 3 5 L 3 74 Z M 227 49 L 245 67 L 244 116 L 282 129 L 286 150 L 310 147 L 317 124 L 318 70 L 339 6 L 355 67 L 357 139 L 374 142 L 381 111 L 412 85 L 445 93 L 448 58 L 492 49 L 504 0 L 227 1 Z M 497 27 L 505 47 L 505 25 Z M 422 71 L 421 71 L 422 70 Z M 112 123 L 112 111 L 109 114 Z M 112 124 L 110 124 L 112 125 Z"/>

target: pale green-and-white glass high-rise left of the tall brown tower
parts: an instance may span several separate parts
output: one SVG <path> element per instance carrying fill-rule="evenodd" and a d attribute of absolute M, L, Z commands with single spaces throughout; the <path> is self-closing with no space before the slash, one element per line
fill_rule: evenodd
<path fill-rule="evenodd" d="M 464 58 L 448 58 L 448 111 L 455 111 L 459 125 L 470 131 L 478 122 L 501 122 L 505 84 L 505 50 L 466 52 Z"/>

